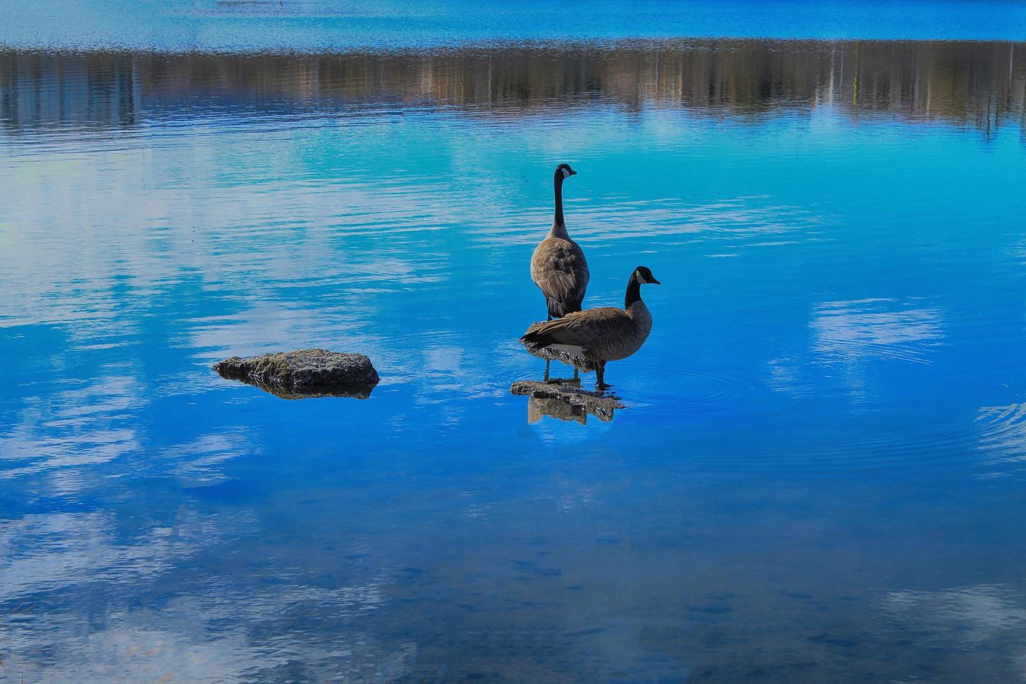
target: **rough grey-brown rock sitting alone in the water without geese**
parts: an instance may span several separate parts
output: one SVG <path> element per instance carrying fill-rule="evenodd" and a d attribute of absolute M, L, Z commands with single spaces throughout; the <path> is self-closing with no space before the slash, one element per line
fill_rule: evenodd
<path fill-rule="evenodd" d="M 283 399 L 356 397 L 366 399 L 378 385 L 378 371 L 362 354 L 323 349 L 233 356 L 213 364 L 222 377 L 242 380 Z"/>

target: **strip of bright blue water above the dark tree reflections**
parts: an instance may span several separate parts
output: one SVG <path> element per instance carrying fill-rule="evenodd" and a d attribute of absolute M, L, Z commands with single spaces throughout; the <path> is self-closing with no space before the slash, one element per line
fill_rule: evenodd
<path fill-rule="evenodd" d="M 628 9 L 629 7 L 629 9 Z M 448 3 L 340 0 L 7 3 L 0 43 L 28 48 L 190 51 L 428 47 L 480 40 L 664 36 L 1022 40 L 1026 13 L 999 1 L 887 3 L 646 0 Z"/>

